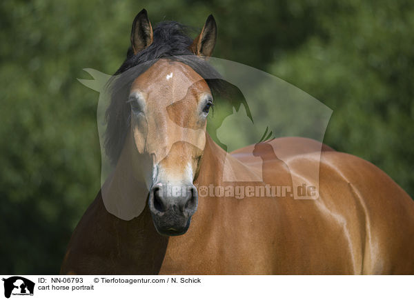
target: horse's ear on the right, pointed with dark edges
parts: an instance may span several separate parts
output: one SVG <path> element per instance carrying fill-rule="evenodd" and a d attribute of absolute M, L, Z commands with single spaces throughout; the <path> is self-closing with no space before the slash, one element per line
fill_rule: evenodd
<path fill-rule="evenodd" d="M 215 23 L 213 14 L 210 14 L 201 33 L 195 38 L 193 44 L 191 44 L 190 50 L 196 55 L 210 57 L 213 54 L 216 39 L 217 24 Z"/>

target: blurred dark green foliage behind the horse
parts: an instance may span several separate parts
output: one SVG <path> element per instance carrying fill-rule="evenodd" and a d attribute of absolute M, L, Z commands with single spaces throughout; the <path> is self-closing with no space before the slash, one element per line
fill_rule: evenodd
<path fill-rule="evenodd" d="M 372 161 L 414 196 L 414 2 L 0 2 L 0 273 L 55 274 L 99 191 L 98 94 L 83 68 L 117 70 L 130 25 L 201 28 L 215 57 L 270 72 L 333 109 L 324 142 Z"/>

